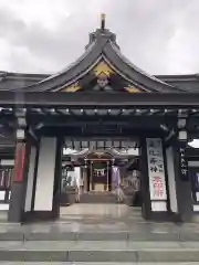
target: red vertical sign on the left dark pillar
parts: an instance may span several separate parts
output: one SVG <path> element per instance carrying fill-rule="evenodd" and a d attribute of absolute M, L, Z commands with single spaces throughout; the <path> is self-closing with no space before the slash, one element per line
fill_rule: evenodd
<path fill-rule="evenodd" d="M 21 182 L 23 180 L 24 158 L 25 158 L 25 144 L 18 142 L 15 147 L 15 159 L 13 169 L 14 182 Z"/>

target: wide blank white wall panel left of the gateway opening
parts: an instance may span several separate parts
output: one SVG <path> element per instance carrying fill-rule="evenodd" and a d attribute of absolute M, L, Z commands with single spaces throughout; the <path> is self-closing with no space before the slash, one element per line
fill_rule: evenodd
<path fill-rule="evenodd" d="M 56 138 L 42 137 L 40 142 L 34 211 L 52 211 Z"/>

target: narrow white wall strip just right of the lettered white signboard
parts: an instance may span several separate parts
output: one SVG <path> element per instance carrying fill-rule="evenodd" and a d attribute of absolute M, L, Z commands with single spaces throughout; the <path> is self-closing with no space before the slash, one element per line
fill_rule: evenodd
<path fill-rule="evenodd" d="M 170 209 L 172 212 L 178 212 L 177 197 L 176 197 L 176 180 L 175 180 L 175 165 L 174 165 L 174 151 L 172 147 L 166 149 L 167 157 L 167 172 L 168 172 L 168 186 L 169 186 L 169 200 Z"/>

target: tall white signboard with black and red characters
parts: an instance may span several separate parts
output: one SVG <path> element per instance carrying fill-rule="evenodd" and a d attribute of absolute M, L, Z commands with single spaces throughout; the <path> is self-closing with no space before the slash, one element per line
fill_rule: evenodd
<path fill-rule="evenodd" d="M 146 144 L 150 200 L 167 200 L 161 139 L 147 138 Z"/>

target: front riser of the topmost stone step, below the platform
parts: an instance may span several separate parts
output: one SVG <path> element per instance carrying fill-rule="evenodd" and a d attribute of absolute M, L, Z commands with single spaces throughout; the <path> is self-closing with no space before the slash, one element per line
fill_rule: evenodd
<path fill-rule="evenodd" d="M 199 241 L 199 234 L 147 233 L 147 232 L 7 232 L 0 233 L 2 241 L 134 241 L 134 242 L 185 242 Z"/>

